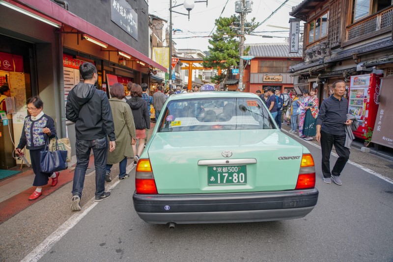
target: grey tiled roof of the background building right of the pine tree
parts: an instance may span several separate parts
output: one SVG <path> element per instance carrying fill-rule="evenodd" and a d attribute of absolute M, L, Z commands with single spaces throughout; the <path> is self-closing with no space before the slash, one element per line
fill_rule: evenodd
<path fill-rule="evenodd" d="M 303 46 L 299 45 L 297 53 L 289 53 L 289 44 L 287 43 L 265 43 L 265 44 L 248 44 L 250 47 L 249 55 L 255 57 L 303 57 Z"/>

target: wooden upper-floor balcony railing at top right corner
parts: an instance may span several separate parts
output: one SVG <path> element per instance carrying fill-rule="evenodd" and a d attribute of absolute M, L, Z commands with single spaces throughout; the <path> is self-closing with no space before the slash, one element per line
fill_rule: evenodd
<path fill-rule="evenodd" d="M 392 26 L 393 6 L 379 11 L 355 24 L 347 26 L 346 40 L 353 40 L 358 37 L 379 31 Z"/>

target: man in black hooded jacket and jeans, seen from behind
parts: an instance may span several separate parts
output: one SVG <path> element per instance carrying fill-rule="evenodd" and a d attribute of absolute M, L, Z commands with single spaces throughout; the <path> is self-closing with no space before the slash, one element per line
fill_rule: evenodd
<path fill-rule="evenodd" d="M 107 164 L 107 135 L 110 152 L 115 148 L 114 125 L 108 97 L 102 90 L 97 90 L 97 69 L 92 63 L 85 62 L 79 67 L 83 83 L 78 83 L 68 94 L 66 118 L 75 123 L 77 165 L 72 185 L 71 210 L 81 210 L 80 201 L 84 176 L 93 149 L 95 165 L 95 201 L 108 198 L 111 193 L 105 191 Z"/>

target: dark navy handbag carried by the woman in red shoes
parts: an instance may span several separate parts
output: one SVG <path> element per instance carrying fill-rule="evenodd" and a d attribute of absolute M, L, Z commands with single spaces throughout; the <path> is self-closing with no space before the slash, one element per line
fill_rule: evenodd
<path fill-rule="evenodd" d="M 67 150 L 58 150 L 57 136 L 56 136 L 56 150 L 49 151 L 48 139 L 45 144 L 45 151 L 40 152 L 40 167 L 43 173 L 53 173 L 64 170 L 67 160 Z"/>

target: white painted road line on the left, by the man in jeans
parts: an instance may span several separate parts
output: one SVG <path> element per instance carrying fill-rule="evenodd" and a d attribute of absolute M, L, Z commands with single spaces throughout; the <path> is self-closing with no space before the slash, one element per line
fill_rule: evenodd
<path fill-rule="evenodd" d="M 126 169 L 128 174 L 134 168 L 132 163 Z M 92 171 L 90 174 L 94 173 Z M 89 174 L 89 175 L 90 175 Z M 108 191 L 112 189 L 120 182 L 120 180 L 111 184 L 106 188 Z M 94 201 L 94 197 L 90 199 L 86 205 L 82 208 L 83 212 L 76 212 L 67 221 L 65 221 L 55 232 L 49 235 L 41 244 L 34 248 L 21 262 L 37 262 L 40 260 L 68 231 L 70 231 L 90 210 L 92 210 L 98 202 Z"/>

